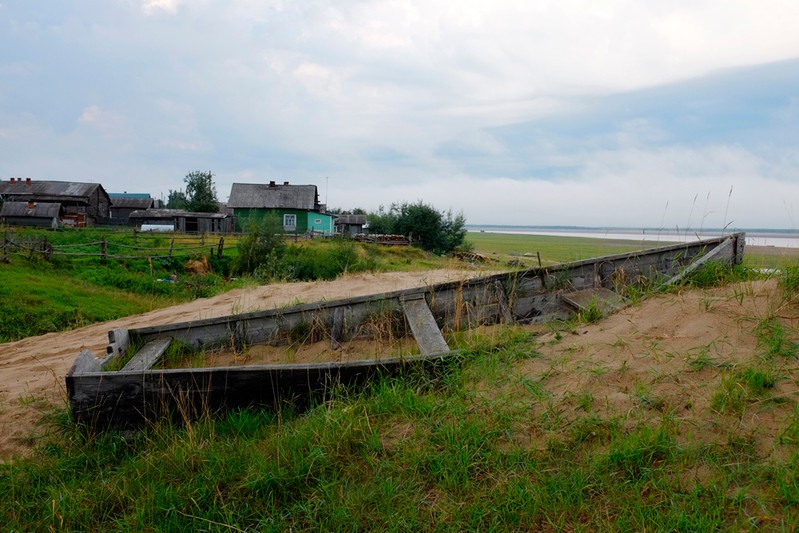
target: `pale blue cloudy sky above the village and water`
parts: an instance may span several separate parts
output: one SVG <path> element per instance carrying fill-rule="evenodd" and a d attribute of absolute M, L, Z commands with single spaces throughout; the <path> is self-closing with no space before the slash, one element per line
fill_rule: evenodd
<path fill-rule="evenodd" d="M 799 230 L 796 0 L 0 0 L 0 179 Z"/>

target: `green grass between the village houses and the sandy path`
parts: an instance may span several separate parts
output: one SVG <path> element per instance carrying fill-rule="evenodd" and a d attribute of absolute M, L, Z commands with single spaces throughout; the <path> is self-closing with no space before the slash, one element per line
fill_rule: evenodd
<path fill-rule="evenodd" d="M 111 320 L 159 307 L 213 296 L 249 282 L 232 278 L 231 264 L 237 254 L 237 236 L 225 236 L 224 254 L 216 251 L 219 236 L 182 234 L 134 234 L 119 228 L 85 228 L 46 231 L 5 229 L 14 242 L 46 238 L 55 250 L 90 256 L 53 255 L 47 261 L 11 255 L 0 263 L 0 342 L 63 331 Z M 99 257 L 99 241 L 105 239 L 109 254 L 131 255 L 122 259 Z M 172 241 L 172 257 L 166 255 Z M 188 250 L 181 252 L 180 250 Z M 213 248 L 213 250 L 212 250 Z M 207 251 L 205 251 L 207 249 Z M 334 279 L 343 272 L 425 270 L 452 267 L 411 247 L 381 248 L 342 241 L 304 241 L 289 244 L 291 254 L 280 279 Z M 186 271 L 189 260 L 208 258 L 211 273 Z M 458 266 L 458 265 L 456 265 Z M 273 279 L 257 280 L 271 282 Z"/>

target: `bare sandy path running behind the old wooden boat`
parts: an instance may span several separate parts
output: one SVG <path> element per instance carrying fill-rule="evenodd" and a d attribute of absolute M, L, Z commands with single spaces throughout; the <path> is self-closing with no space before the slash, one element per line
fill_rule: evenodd
<path fill-rule="evenodd" d="M 0 344 L 0 460 L 30 450 L 35 441 L 32 432 L 43 413 L 53 405 L 66 404 L 64 376 L 75 357 L 83 348 L 103 354 L 110 329 L 186 322 L 286 304 L 363 296 L 480 274 L 475 270 L 390 272 L 348 275 L 331 282 L 253 286 L 72 331 Z"/>

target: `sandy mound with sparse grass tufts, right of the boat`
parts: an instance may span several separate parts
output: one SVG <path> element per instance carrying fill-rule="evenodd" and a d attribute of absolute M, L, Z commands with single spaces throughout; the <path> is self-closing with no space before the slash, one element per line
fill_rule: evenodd
<path fill-rule="evenodd" d="M 769 321 L 780 324 L 793 356 L 768 354 Z M 777 279 L 655 295 L 537 340 L 517 377 L 550 395 L 531 419 L 558 420 L 555 433 L 570 434 L 588 415 L 633 425 L 670 420 L 686 439 L 751 442 L 765 459 L 785 460 L 793 449 L 784 436 L 799 420 L 799 299 L 786 298 Z M 773 376 L 774 386 L 752 391 L 750 372 Z M 730 407 L 735 398 L 740 409 Z M 546 442 L 529 437 L 531 446 Z"/>

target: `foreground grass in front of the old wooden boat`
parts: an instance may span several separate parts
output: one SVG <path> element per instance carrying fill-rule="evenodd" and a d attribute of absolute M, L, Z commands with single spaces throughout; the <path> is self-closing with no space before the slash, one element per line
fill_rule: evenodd
<path fill-rule="evenodd" d="M 552 423 L 534 414 L 551 401 L 539 387 L 502 392 L 533 344 L 519 328 L 475 335 L 436 378 L 339 388 L 305 413 L 236 411 L 140 433 L 85 433 L 59 413 L 31 458 L 0 466 L 0 516 L 37 531 L 799 526 L 796 415 L 785 463 L 732 430 L 708 443 L 668 415 L 599 417 L 590 395 Z"/>

